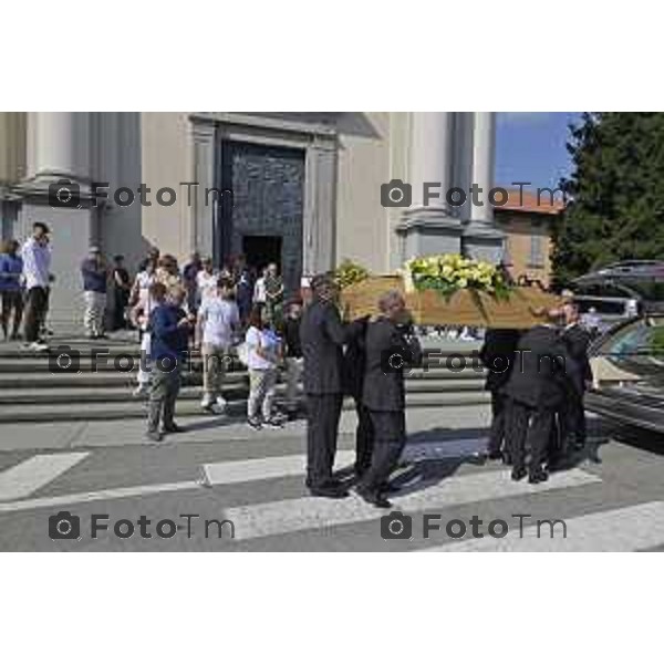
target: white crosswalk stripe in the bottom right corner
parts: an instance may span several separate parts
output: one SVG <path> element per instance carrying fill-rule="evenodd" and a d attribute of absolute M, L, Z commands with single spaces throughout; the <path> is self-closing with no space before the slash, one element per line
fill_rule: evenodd
<path fill-rule="evenodd" d="M 540 527 L 523 528 L 522 537 L 517 529 L 501 538 L 484 537 L 465 539 L 442 547 L 421 549 L 419 552 L 479 552 L 479 551 L 636 551 L 664 543 L 664 502 L 643 502 L 620 509 L 564 519 L 567 538 L 563 538 L 561 525 L 551 528 L 547 523 Z M 539 537 L 538 537 L 539 533 Z"/>

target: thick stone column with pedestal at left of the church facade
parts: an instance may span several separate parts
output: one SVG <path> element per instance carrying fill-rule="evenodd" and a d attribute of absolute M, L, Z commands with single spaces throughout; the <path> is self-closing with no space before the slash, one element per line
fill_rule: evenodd
<path fill-rule="evenodd" d="M 97 208 L 90 199 L 90 114 L 30 113 L 28 118 L 28 177 L 18 187 L 23 203 L 24 236 L 35 221 L 51 229 L 51 288 L 49 320 L 56 328 L 82 332 L 82 280 L 80 264 L 91 243 L 98 243 Z M 71 183 L 66 206 L 53 205 L 50 187 Z M 102 248 L 103 250 L 103 248 Z"/>

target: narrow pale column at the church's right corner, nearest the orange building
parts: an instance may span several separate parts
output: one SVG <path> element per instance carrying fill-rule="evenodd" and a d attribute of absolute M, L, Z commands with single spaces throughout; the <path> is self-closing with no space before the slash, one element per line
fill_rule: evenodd
<path fill-rule="evenodd" d="M 470 204 L 470 220 L 464 229 L 464 252 L 479 260 L 499 262 L 502 258 L 505 234 L 494 224 L 494 207 L 489 191 L 494 186 L 496 118 L 495 113 L 473 114 L 471 185 L 477 185 L 484 204 Z M 470 196 L 470 194 L 469 194 Z"/>

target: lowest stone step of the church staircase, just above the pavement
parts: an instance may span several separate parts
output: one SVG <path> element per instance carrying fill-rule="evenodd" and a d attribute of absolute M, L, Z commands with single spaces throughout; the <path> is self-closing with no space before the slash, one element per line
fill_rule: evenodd
<path fill-rule="evenodd" d="M 408 408 L 446 408 L 456 406 L 485 405 L 489 402 L 485 392 L 457 394 L 408 394 Z M 143 401 L 131 403 L 86 403 L 77 404 L 32 404 L 12 405 L 0 408 L 0 424 L 37 423 L 37 422 L 77 422 L 92 419 L 128 419 L 146 416 L 146 404 Z M 344 409 L 354 408 L 353 402 L 346 400 Z M 229 402 L 229 417 L 242 418 L 246 409 L 243 400 Z M 178 402 L 178 415 L 201 415 L 200 405 L 194 400 Z"/>

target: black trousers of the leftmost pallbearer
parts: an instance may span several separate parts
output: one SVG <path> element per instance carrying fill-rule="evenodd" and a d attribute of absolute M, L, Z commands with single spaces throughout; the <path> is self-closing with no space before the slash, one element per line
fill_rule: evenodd
<path fill-rule="evenodd" d="M 307 484 L 320 487 L 332 479 L 341 394 L 307 395 Z"/>

